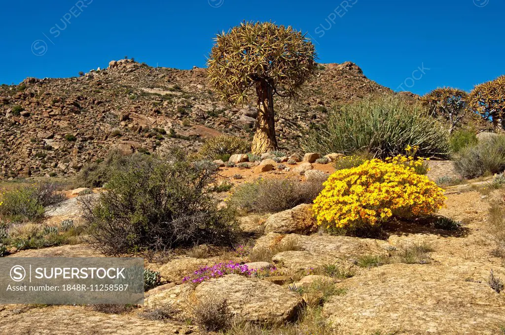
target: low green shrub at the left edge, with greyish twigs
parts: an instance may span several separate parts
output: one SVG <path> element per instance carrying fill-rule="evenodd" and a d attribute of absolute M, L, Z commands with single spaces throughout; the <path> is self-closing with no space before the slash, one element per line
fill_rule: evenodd
<path fill-rule="evenodd" d="M 41 183 L 0 194 L 0 216 L 12 221 L 38 220 L 44 216 L 44 207 L 65 200 L 54 184 Z"/>

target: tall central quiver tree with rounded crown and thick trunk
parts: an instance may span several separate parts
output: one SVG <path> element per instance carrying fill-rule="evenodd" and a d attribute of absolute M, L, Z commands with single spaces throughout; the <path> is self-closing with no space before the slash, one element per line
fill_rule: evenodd
<path fill-rule="evenodd" d="M 317 69 L 314 45 L 293 28 L 271 22 L 244 22 L 218 34 L 208 75 L 221 99 L 247 101 L 256 88 L 258 118 L 253 153 L 277 149 L 274 95 L 292 97 Z"/>

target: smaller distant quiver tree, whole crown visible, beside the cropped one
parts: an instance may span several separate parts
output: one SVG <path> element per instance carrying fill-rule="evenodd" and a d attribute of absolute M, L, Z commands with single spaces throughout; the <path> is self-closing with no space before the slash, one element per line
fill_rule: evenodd
<path fill-rule="evenodd" d="M 431 116 L 444 119 L 452 133 L 456 125 L 465 117 L 467 92 L 451 87 L 436 88 L 421 97 Z"/>

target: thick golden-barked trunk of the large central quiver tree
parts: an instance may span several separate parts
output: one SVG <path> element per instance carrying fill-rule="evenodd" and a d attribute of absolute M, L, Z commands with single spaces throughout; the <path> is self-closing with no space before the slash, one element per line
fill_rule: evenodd
<path fill-rule="evenodd" d="M 256 93 L 258 94 L 258 118 L 256 119 L 256 133 L 252 139 L 251 152 L 262 154 L 277 150 L 272 86 L 265 80 L 258 81 Z"/>

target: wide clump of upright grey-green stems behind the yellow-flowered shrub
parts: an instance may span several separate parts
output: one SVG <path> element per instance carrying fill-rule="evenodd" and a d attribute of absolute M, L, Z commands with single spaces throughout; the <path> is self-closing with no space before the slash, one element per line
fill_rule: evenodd
<path fill-rule="evenodd" d="M 424 157 L 446 157 L 450 152 L 447 129 L 421 105 L 388 96 L 331 111 L 328 122 L 312 130 L 302 143 L 306 152 L 354 154 L 367 150 L 380 158 L 403 154 L 408 145 L 417 145 L 417 154 Z"/>

